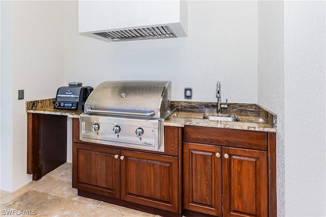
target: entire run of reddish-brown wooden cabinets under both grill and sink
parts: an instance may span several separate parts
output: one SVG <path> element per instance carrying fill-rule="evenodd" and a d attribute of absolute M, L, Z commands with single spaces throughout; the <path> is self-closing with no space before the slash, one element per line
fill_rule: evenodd
<path fill-rule="evenodd" d="M 276 134 L 165 127 L 166 152 L 79 140 L 78 195 L 162 216 L 276 216 Z"/>

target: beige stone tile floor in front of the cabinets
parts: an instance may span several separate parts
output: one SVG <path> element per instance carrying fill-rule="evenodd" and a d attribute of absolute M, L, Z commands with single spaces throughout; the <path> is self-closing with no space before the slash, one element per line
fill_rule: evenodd
<path fill-rule="evenodd" d="M 71 163 L 65 163 L 13 193 L 1 191 L 1 216 L 158 216 L 80 197 L 71 174 Z"/>

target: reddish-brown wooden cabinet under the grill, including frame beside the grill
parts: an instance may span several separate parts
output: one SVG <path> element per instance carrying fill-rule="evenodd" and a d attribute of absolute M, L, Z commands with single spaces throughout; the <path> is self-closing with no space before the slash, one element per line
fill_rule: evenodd
<path fill-rule="evenodd" d="M 179 127 L 166 128 L 170 139 L 166 152 L 159 153 L 84 143 L 77 126 L 73 120 L 72 186 L 78 195 L 160 215 L 181 214 Z"/>

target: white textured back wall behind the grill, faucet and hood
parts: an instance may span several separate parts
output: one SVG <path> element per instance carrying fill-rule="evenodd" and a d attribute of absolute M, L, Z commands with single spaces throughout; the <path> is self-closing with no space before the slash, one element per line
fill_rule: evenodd
<path fill-rule="evenodd" d="M 65 3 L 65 83 L 167 79 L 172 100 L 257 102 L 257 2 L 188 1 L 188 37 L 104 42 L 79 35 L 77 3 Z"/>

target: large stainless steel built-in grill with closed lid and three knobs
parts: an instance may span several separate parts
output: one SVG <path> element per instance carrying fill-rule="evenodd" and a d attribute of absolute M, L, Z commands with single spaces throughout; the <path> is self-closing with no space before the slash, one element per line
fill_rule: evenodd
<path fill-rule="evenodd" d="M 100 84 L 79 117 L 80 139 L 164 151 L 164 119 L 172 114 L 171 83 L 115 81 Z"/>

